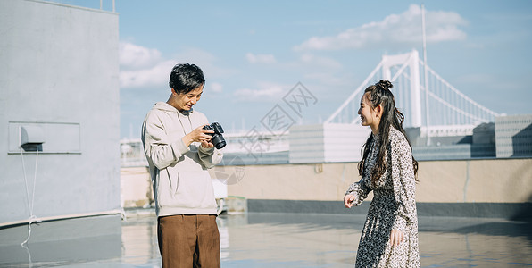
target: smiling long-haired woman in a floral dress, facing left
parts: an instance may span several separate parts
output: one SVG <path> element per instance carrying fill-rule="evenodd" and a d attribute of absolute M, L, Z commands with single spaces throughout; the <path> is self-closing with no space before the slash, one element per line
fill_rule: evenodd
<path fill-rule="evenodd" d="M 355 267 L 420 267 L 415 176 L 418 163 L 403 130 L 403 113 L 395 108 L 392 83 L 380 80 L 366 88 L 358 114 L 371 135 L 358 164 L 362 179 L 354 182 L 344 205 L 360 205 L 373 190 L 373 200 L 356 255 Z"/>

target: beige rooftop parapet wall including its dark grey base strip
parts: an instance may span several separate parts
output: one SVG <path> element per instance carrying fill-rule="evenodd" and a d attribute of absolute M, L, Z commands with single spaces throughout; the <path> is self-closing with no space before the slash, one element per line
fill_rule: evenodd
<path fill-rule="evenodd" d="M 351 210 L 342 205 L 345 190 L 360 180 L 356 166 L 261 164 L 210 172 L 227 179 L 229 212 L 366 214 L 370 202 Z M 532 158 L 420 161 L 418 179 L 420 215 L 532 218 Z M 122 168 L 122 206 L 153 205 L 150 184 L 145 167 Z"/>

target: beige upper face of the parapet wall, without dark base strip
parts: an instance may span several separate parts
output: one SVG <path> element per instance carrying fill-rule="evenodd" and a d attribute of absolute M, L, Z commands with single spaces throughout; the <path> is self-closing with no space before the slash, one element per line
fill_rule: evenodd
<path fill-rule="evenodd" d="M 360 180 L 357 163 L 246 165 L 228 186 L 229 196 L 247 199 L 343 200 Z M 531 203 L 532 158 L 420 161 L 420 203 Z M 370 197 L 369 197 L 370 198 Z"/>

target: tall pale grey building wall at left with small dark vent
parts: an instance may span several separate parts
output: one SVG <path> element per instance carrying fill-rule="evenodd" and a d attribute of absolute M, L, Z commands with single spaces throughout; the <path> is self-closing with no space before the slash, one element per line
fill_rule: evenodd
<path fill-rule="evenodd" d="M 0 33 L 0 224 L 31 203 L 38 218 L 119 209 L 118 14 L 2 0 Z M 38 155 L 21 155 L 21 125 L 40 129 Z"/>

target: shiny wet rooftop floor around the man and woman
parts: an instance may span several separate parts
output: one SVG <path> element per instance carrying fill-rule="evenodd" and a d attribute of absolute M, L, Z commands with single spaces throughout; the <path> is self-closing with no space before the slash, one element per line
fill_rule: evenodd
<path fill-rule="evenodd" d="M 27 226 L 0 230 L 0 266 L 160 267 L 155 222 L 152 213 L 129 214 L 117 233 L 104 226 L 97 231 L 104 235 L 46 243 L 32 243 L 48 232 L 34 228 L 28 250 Z M 221 266 L 353 267 L 363 222 L 346 214 L 224 214 Z M 532 266 L 532 223 L 420 217 L 420 256 L 422 267 Z"/>

